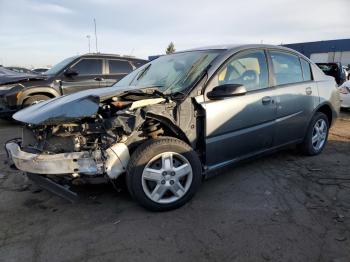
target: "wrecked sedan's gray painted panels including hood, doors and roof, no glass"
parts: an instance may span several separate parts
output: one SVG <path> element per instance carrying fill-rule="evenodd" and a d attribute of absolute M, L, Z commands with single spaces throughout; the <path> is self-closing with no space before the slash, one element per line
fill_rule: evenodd
<path fill-rule="evenodd" d="M 187 97 L 180 103 L 176 120 L 165 111 L 164 105 L 146 107 L 146 112 L 172 126 L 181 138 L 200 152 L 203 169 L 215 170 L 228 164 L 267 153 L 278 148 L 302 142 L 312 116 L 317 111 L 325 113 L 332 123 L 339 112 L 339 94 L 333 78 L 326 76 L 312 61 L 300 53 L 271 45 L 234 45 L 200 48 L 217 49 L 222 52 L 212 61 L 206 74 L 196 83 Z M 313 80 L 276 86 L 269 65 L 269 86 L 265 89 L 247 92 L 243 96 L 210 100 L 207 93 L 218 85 L 216 74 L 235 55 L 250 50 L 271 50 L 292 53 L 307 60 L 312 68 Z M 191 50 L 188 50 L 191 51 Z M 183 52 L 188 52 L 183 51 Z M 105 88 L 87 90 L 53 101 L 39 103 L 18 112 L 14 118 L 29 124 L 46 124 L 55 121 L 72 121 L 96 114 L 98 103 L 120 93 L 118 89 Z M 270 102 L 265 104 L 263 99 Z M 85 102 L 84 102 L 85 101 Z M 65 105 L 76 102 L 88 108 L 70 115 L 62 110 Z M 203 114 L 196 115 L 194 108 L 201 108 Z M 65 107 L 67 108 L 67 107 Z M 39 110 L 40 109 L 40 110 Z M 47 110 L 46 110 L 47 109 Z M 188 110 L 191 110 L 189 113 Z M 53 113 L 54 111 L 60 114 Z M 33 113 L 33 114 L 32 114 Z M 65 115 L 66 114 L 66 115 Z M 81 114 L 81 115 L 79 115 Z M 194 118 L 201 118 L 201 124 L 194 128 Z M 191 126 L 191 127 L 190 127 Z M 176 132 L 175 132 L 176 133 Z M 201 145 L 201 146 L 199 146 Z M 207 173 L 207 172 L 205 172 Z"/>

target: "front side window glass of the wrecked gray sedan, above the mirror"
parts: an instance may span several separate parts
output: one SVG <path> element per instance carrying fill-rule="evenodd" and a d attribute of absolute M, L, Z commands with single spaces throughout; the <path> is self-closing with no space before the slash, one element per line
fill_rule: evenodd
<path fill-rule="evenodd" d="M 262 50 L 232 58 L 218 74 L 219 85 L 241 84 L 247 91 L 268 87 L 268 67 Z"/>

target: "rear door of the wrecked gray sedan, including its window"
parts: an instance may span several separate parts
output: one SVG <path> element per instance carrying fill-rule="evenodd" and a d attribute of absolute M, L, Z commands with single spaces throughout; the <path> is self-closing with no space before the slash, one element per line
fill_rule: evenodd
<path fill-rule="evenodd" d="M 281 146 L 304 138 L 318 102 L 317 86 L 308 61 L 279 50 L 269 56 L 277 106 L 274 146 Z"/>

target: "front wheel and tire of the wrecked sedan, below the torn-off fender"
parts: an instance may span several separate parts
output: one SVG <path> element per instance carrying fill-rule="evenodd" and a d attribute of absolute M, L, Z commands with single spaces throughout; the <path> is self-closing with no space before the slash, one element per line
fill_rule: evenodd
<path fill-rule="evenodd" d="M 151 139 L 140 145 L 132 154 L 126 173 L 130 195 L 151 211 L 181 207 L 194 196 L 201 181 L 202 166 L 197 153 L 173 137 Z"/>

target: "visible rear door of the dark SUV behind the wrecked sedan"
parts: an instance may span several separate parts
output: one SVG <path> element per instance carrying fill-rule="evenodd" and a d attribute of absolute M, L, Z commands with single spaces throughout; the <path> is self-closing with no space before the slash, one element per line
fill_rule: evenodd
<path fill-rule="evenodd" d="M 134 70 L 134 67 L 128 60 L 106 59 L 106 75 L 104 76 L 105 86 L 112 86 L 124 76 Z"/>

